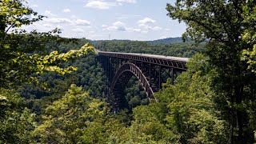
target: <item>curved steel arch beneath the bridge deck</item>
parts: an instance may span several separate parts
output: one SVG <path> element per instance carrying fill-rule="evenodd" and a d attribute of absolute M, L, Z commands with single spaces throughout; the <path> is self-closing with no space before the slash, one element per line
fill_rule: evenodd
<path fill-rule="evenodd" d="M 126 84 L 132 76 L 138 78 L 138 81 L 141 83 L 142 88 L 146 91 L 148 98 L 154 98 L 153 90 L 150 87 L 150 82 L 146 79 L 145 75 L 142 73 L 142 70 L 134 63 L 126 62 L 123 64 L 114 75 L 113 81 L 110 86 L 110 95 L 113 98 L 108 98 L 114 104 L 116 108 L 122 108 L 126 106 L 119 106 L 120 104 L 126 103 L 126 98 L 124 98 L 124 90 Z"/>

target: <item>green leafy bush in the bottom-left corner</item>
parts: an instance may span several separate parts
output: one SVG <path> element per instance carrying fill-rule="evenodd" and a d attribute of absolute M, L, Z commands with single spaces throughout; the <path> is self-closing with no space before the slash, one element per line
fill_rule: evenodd
<path fill-rule="evenodd" d="M 35 114 L 22 106 L 13 90 L 0 90 L 0 143 L 29 143 L 36 126 Z"/>

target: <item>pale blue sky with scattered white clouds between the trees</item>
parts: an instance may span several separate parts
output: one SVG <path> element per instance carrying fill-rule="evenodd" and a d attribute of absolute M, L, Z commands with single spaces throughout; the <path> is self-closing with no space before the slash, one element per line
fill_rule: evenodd
<path fill-rule="evenodd" d="M 62 37 L 91 40 L 155 40 L 180 37 L 184 23 L 166 14 L 166 3 L 175 0 L 29 0 L 42 22 L 26 30 L 62 30 Z"/>

